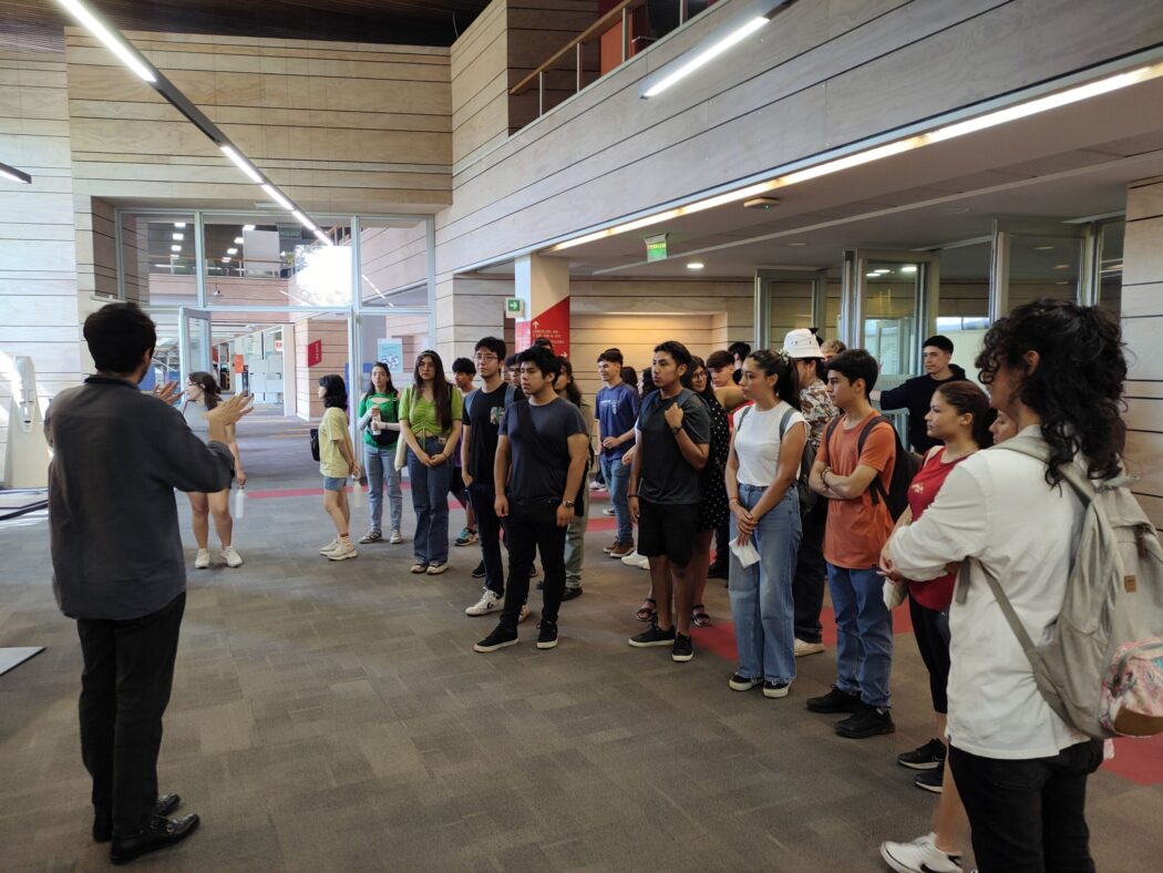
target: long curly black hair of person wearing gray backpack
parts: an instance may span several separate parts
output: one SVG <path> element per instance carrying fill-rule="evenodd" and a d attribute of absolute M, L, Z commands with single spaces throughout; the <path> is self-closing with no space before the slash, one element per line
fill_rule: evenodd
<path fill-rule="evenodd" d="M 985 334 L 975 361 L 982 384 L 992 384 L 1003 367 L 1023 374 L 1018 398 L 1042 419 L 1048 484 L 1062 481 L 1062 466 L 1079 452 L 1091 478 L 1119 475 L 1127 439 L 1122 349 L 1119 322 L 1106 310 L 1049 298 L 1019 306 Z M 1040 359 L 1033 371 L 1028 352 Z"/>

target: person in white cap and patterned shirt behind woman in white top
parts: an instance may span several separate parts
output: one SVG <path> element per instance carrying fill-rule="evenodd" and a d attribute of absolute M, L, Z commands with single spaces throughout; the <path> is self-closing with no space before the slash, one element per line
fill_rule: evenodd
<path fill-rule="evenodd" d="M 800 384 L 800 405 L 811 433 L 808 443 L 812 455 L 820 450 L 823 428 L 836 414 L 828 386 L 820 378 L 819 364 L 823 353 L 815 334 L 807 327 L 789 331 L 784 338 L 784 352 L 795 362 Z M 795 577 L 792 581 L 792 601 L 795 604 L 795 655 L 816 654 L 823 651 L 820 610 L 823 608 L 823 528 L 828 520 L 828 502 L 818 499 L 804 510 L 800 508 L 804 528 L 799 556 L 795 561 Z"/>

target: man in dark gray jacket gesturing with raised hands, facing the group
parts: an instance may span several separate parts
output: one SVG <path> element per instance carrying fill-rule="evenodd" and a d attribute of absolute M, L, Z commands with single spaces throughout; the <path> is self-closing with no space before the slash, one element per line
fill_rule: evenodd
<path fill-rule="evenodd" d="M 221 491 L 233 460 L 226 426 L 250 411 L 233 397 L 206 413 L 209 446 L 167 403 L 137 390 L 157 333 L 134 304 L 85 320 L 97 375 L 62 391 L 45 416 L 53 590 L 77 620 L 84 655 L 81 759 L 93 778 L 93 838 L 124 864 L 173 845 L 198 816 L 165 816 L 158 797 L 162 715 L 170 701 L 186 572 L 173 489 Z M 172 397 L 173 386 L 159 396 Z"/>

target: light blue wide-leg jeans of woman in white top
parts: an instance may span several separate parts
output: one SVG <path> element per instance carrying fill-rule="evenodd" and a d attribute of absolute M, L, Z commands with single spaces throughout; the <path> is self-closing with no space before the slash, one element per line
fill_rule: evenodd
<path fill-rule="evenodd" d="M 751 509 L 768 489 L 739 487 L 739 502 Z M 739 538 L 739 524 L 730 517 L 730 538 Z M 789 488 L 755 528 L 752 535 L 759 560 L 743 567 L 730 553 L 730 612 L 735 622 L 735 647 L 740 675 L 763 677 L 783 684 L 795 679 L 795 608 L 792 579 L 800 541 L 799 497 Z"/>

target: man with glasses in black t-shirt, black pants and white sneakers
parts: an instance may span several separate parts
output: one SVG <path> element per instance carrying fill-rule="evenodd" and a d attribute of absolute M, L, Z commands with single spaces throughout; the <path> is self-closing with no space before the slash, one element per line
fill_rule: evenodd
<path fill-rule="evenodd" d="M 501 377 L 505 340 L 485 336 L 477 343 L 477 375 L 480 388 L 464 398 L 461 431 L 461 475 L 469 489 L 469 501 L 477 516 L 480 556 L 485 565 L 485 590 L 480 599 L 465 610 L 470 616 L 486 616 L 501 608 L 505 597 L 505 567 L 501 565 L 501 525 L 493 509 L 493 459 L 497 455 L 497 431 L 505 409 L 523 397 L 520 389 Z"/>

